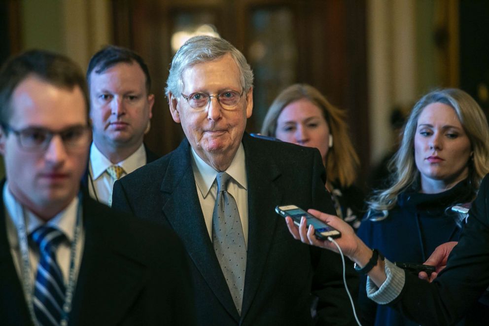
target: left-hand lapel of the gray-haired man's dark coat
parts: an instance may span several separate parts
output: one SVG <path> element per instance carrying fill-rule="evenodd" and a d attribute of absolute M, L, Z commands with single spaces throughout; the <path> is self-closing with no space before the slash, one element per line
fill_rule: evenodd
<path fill-rule="evenodd" d="M 185 248 L 210 289 L 239 320 L 231 293 L 215 256 L 197 195 L 190 145 L 185 139 L 175 150 L 163 179 L 163 214 L 183 241 Z"/>

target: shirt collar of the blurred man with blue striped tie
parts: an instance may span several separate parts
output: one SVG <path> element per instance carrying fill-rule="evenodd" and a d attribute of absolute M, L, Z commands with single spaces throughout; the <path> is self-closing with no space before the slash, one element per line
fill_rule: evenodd
<path fill-rule="evenodd" d="M 55 217 L 51 218 L 48 222 L 44 222 L 37 217 L 33 212 L 23 207 L 20 202 L 13 196 L 8 188 L 8 181 L 5 182 L 3 187 L 3 201 L 5 203 L 5 209 L 10 216 L 14 225 L 19 225 L 20 218 L 24 218 L 26 223 L 27 234 L 31 234 L 35 229 L 41 225 L 52 226 L 61 232 L 71 242 L 74 238 L 74 227 L 76 224 L 76 215 L 78 211 L 79 198 L 75 196 L 70 204 L 63 211 L 58 213 Z M 24 212 L 24 214 L 22 214 Z M 17 237 L 16 237 L 17 239 Z M 16 240 L 18 245 L 18 239 Z"/>

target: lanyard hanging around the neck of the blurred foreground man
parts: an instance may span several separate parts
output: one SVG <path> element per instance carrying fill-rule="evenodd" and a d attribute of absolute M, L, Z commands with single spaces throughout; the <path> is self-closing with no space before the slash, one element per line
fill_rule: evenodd
<path fill-rule="evenodd" d="M 68 315 L 71 311 L 71 302 L 73 299 L 73 291 L 75 287 L 75 257 L 76 257 L 76 244 L 78 243 L 78 238 L 81 230 L 81 195 L 78 196 L 78 209 L 76 211 L 76 222 L 74 227 L 73 241 L 71 242 L 70 248 L 70 270 L 68 274 L 68 285 L 66 287 L 65 302 L 63 303 L 63 313 L 61 315 L 61 326 L 68 325 Z M 17 234 L 19 238 L 19 247 L 21 252 L 21 274 L 22 274 L 22 284 L 24 286 L 24 294 L 26 296 L 27 306 L 29 307 L 29 313 L 34 325 L 37 326 L 37 319 L 34 313 L 33 304 L 33 285 L 31 284 L 31 261 L 29 258 L 29 244 L 27 240 L 27 228 L 26 228 L 26 216 L 24 208 L 22 205 L 17 205 L 17 214 L 19 218 L 19 223 L 17 225 Z"/>

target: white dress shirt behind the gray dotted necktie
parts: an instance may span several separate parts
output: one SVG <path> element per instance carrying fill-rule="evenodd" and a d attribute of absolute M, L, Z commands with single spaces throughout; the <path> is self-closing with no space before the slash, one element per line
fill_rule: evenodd
<path fill-rule="evenodd" d="M 204 214 L 210 241 L 212 241 L 212 212 L 214 211 L 217 196 L 215 178 L 217 177 L 218 171 L 204 162 L 193 148 L 192 157 L 192 169 L 194 171 L 197 194 L 199 195 L 200 206 Z M 248 247 L 248 186 L 243 144 L 238 148 L 231 165 L 225 172 L 232 178 L 228 184 L 227 191 L 236 200 L 241 217 L 241 225 L 243 226 L 244 243 Z"/>

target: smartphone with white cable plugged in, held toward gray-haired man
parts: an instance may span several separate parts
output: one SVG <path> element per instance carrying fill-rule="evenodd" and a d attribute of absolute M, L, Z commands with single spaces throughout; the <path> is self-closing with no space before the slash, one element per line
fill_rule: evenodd
<path fill-rule="evenodd" d="M 275 208 L 275 212 L 282 217 L 291 217 L 296 225 L 301 223 L 301 217 L 306 217 L 307 226 L 313 225 L 315 236 L 317 239 L 326 240 L 328 237 L 331 238 L 339 238 L 341 236 L 341 232 L 335 229 L 332 226 L 324 223 L 323 221 L 315 218 L 308 212 L 300 209 L 295 205 L 285 205 L 285 206 L 277 206 Z"/>

